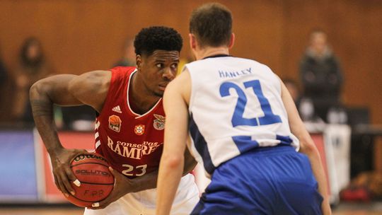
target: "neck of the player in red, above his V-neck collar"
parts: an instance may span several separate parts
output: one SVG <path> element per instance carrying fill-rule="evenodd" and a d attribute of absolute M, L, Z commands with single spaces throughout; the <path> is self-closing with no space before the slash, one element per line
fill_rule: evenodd
<path fill-rule="evenodd" d="M 134 109 L 134 112 L 144 114 L 151 110 L 161 97 L 153 95 L 147 90 L 138 72 L 132 76 L 131 81 L 129 88 L 129 98 L 131 98 L 129 100 L 134 103 L 135 109 L 138 109 Z"/>

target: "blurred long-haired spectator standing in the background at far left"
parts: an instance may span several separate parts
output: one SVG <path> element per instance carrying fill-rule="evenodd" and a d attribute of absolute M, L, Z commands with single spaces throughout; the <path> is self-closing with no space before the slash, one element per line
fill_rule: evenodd
<path fill-rule="evenodd" d="M 47 64 L 40 40 L 28 37 L 20 50 L 17 69 L 13 73 L 16 85 L 12 114 L 15 120 L 33 123 L 32 110 L 29 103 L 29 88 L 36 81 L 52 73 Z"/>

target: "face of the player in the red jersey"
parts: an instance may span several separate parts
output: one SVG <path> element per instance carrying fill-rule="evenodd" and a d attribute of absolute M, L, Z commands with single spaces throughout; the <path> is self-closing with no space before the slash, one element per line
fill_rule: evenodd
<path fill-rule="evenodd" d="M 142 56 L 139 69 L 146 88 L 154 95 L 163 96 L 167 84 L 175 79 L 178 64 L 178 51 L 156 50 L 150 56 Z"/>

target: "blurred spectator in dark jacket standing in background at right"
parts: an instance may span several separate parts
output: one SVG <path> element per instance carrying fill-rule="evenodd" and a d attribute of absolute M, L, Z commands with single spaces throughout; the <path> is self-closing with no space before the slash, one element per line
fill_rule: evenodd
<path fill-rule="evenodd" d="M 343 77 L 322 30 L 313 30 L 310 35 L 310 45 L 300 64 L 300 76 L 303 97 L 311 99 L 316 115 L 328 121 L 328 110 L 340 107 Z"/>

